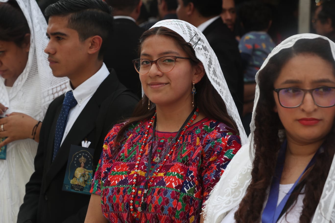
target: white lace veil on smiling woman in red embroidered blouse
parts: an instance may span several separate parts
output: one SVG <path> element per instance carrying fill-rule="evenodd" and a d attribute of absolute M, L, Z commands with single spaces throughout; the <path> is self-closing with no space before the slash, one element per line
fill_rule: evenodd
<path fill-rule="evenodd" d="M 178 19 L 162 20 L 154 24 L 151 28 L 158 26 L 164 26 L 177 32 L 186 42 L 191 43 L 196 57 L 201 61 L 205 68 L 208 79 L 221 96 L 227 107 L 228 114 L 234 119 L 239 128 L 241 143 L 244 145 L 247 142 L 247 136 L 242 126 L 239 112 L 237 111 L 235 103 L 228 90 L 219 61 L 204 34 L 190 23 Z"/>

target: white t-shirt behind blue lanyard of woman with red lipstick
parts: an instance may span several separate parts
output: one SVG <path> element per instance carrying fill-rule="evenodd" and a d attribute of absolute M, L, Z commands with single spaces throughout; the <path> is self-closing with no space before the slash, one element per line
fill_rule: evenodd
<path fill-rule="evenodd" d="M 291 189 L 292 186 L 293 186 L 293 184 L 280 184 L 279 185 L 279 194 L 278 194 L 277 205 L 279 205 L 279 203 L 281 202 L 281 200 L 283 200 L 283 198 L 289 192 L 289 190 Z M 303 189 L 303 191 L 304 191 L 304 189 Z M 278 220 L 277 223 L 296 223 L 296 222 L 299 222 L 300 214 L 303 211 L 303 207 L 304 207 L 304 204 L 303 204 L 304 197 L 305 197 L 304 194 L 298 195 L 296 203 L 293 203 L 294 206 L 290 207 L 288 209 L 288 212 L 286 212 L 286 214 L 284 214 L 283 216 L 281 216 L 281 218 Z M 265 202 L 265 204 L 266 204 L 266 202 Z M 263 206 L 263 209 L 265 208 L 265 204 Z M 234 214 L 238 210 L 238 208 L 239 207 L 237 206 L 234 209 L 232 209 L 225 216 L 225 218 L 221 221 L 221 223 L 232 223 L 232 222 L 235 222 L 235 220 L 234 220 Z"/>

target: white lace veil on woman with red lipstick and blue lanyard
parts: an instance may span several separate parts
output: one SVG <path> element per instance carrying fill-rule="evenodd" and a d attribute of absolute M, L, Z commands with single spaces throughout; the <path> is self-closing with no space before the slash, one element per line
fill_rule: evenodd
<path fill-rule="evenodd" d="M 316 34 L 298 34 L 293 35 L 278 46 L 276 46 L 264 61 L 260 70 L 262 70 L 273 55 L 280 52 L 280 50 L 292 47 L 299 39 L 314 39 L 323 38 L 329 41 L 331 51 L 335 60 L 335 43 L 325 36 Z M 225 215 L 234 207 L 238 206 L 245 195 L 247 187 L 251 181 L 252 162 L 254 159 L 254 130 L 255 130 L 255 109 L 259 99 L 258 74 L 256 74 L 256 93 L 254 100 L 254 109 L 252 120 L 250 124 L 251 134 L 248 138 L 248 143 L 237 152 L 233 159 L 228 164 L 226 170 L 223 172 L 220 181 L 215 185 L 210 193 L 210 197 L 205 203 L 204 215 L 205 223 L 220 223 Z M 331 168 L 329 170 L 328 178 L 320 198 L 320 202 L 315 211 L 312 222 L 326 223 L 335 222 L 335 159 L 333 159 Z"/>

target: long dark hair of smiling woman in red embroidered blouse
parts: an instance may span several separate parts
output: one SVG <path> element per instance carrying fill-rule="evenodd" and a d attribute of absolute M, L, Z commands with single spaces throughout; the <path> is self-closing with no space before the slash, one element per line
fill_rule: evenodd
<path fill-rule="evenodd" d="M 187 53 L 188 57 L 191 58 L 190 61 L 192 66 L 199 66 L 199 63 L 201 63 L 199 59 L 196 58 L 194 49 L 192 48 L 190 43 L 187 43 L 183 39 L 183 37 L 180 36 L 177 32 L 162 26 L 151 28 L 142 34 L 140 38 L 140 46 L 138 49 L 139 53 L 141 52 L 141 46 L 143 41 L 152 35 L 164 35 L 172 38 L 175 43 Z M 202 64 L 201 67 L 203 68 Z M 221 121 L 238 133 L 239 131 L 235 121 L 228 115 L 224 101 L 214 89 L 213 85 L 210 83 L 207 75 L 204 75 L 200 82 L 195 84 L 195 87 L 197 89 L 197 94 L 194 97 L 194 101 L 199 107 L 199 110 L 206 117 Z M 124 131 L 129 128 L 133 123 L 149 119 L 154 115 L 156 106 L 153 105 L 150 107 L 150 109 L 148 109 L 148 100 L 149 99 L 148 97 L 146 97 L 146 95 L 142 97 L 134 110 L 133 118 L 129 119 L 127 124 L 125 124 L 118 132 L 115 140 L 116 142 L 120 142 L 120 140 L 123 138 Z"/>

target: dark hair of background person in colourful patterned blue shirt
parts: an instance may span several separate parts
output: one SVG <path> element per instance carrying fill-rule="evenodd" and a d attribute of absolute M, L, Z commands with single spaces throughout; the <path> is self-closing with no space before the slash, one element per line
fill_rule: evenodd
<path fill-rule="evenodd" d="M 240 18 L 246 32 L 269 28 L 271 9 L 261 2 L 246 2 L 240 8 Z"/>

